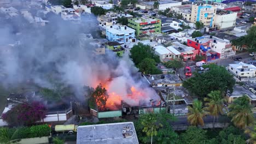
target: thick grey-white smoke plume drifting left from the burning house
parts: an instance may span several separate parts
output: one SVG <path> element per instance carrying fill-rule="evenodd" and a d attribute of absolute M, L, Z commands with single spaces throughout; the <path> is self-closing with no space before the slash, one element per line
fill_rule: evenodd
<path fill-rule="evenodd" d="M 27 18 L 26 18 L 27 19 Z M 20 45 L 9 46 L 9 53 L 1 52 L 0 63 L 2 84 L 15 85 L 32 79 L 40 87 L 52 88 L 48 76 L 57 77 L 71 85 L 78 98 L 84 98 L 83 86 L 96 87 L 99 82 L 113 78 L 108 92 L 115 92 L 129 105 L 144 100 L 160 100 L 153 89 L 148 88 L 136 75 L 138 69 L 129 57 L 119 59 L 114 53 L 93 56 L 88 41 L 79 34 L 95 31 L 96 17 L 85 17 L 81 25 L 62 21 L 58 15 L 50 16 L 44 27 L 34 26 L 22 17 L 13 20 L 1 19 L 0 47 L 20 41 Z M 88 25 L 90 23 L 90 25 Z M 95 23 L 95 25 L 93 25 Z M 17 36 L 17 33 L 21 33 Z M 143 92 L 143 97 L 129 97 L 131 87 Z"/>

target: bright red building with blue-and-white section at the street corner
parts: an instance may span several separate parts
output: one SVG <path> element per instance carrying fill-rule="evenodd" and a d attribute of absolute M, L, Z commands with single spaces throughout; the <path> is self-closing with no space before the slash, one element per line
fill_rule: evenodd
<path fill-rule="evenodd" d="M 211 50 L 213 39 L 197 37 L 188 39 L 187 45 L 198 51 L 197 55 L 205 56 L 206 61 L 220 58 L 220 53 Z"/>

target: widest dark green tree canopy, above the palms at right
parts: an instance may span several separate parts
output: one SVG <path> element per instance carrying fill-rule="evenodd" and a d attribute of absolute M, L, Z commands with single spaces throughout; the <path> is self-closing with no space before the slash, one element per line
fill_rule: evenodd
<path fill-rule="evenodd" d="M 232 93 L 235 80 L 232 75 L 222 66 L 208 64 L 210 68 L 206 73 L 195 73 L 194 77 L 183 81 L 183 87 L 198 97 L 206 97 L 211 91 Z"/>

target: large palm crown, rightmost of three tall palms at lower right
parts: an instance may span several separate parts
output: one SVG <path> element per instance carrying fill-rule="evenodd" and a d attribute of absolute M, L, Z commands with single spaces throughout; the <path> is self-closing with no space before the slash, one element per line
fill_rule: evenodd
<path fill-rule="evenodd" d="M 249 104 L 250 99 L 243 95 L 234 100 L 233 104 L 229 105 L 230 112 L 228 116 L 232 117 L 231 122 L 238 128 L 246 128 L 253 123 L 252 105 Z"/>

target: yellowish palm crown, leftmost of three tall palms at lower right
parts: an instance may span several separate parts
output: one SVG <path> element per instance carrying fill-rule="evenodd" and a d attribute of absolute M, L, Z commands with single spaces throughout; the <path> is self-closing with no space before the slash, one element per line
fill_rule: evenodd
<path fill-rule="evenodd" d="M 203 117 L 209 114 L 205 110 L 205 108 L 202 107 L 202 101 L 194 100 L 194 103 L 191 106 L 188 106 L 189 112 L 187 113 L 188 121 L 192 125 L 203 125 Z"/>

